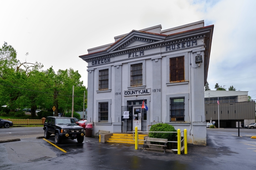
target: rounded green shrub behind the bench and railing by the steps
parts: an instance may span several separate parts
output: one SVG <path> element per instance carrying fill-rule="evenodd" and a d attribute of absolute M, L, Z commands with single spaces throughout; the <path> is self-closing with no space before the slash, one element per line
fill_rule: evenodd
<path fill-rule="evenodd" d="M 162 124 L 162 123 L 152 125 L 149 131 L 177 132 L 172 125 Z M 168 141 L 172 141 L 175 136 L 177 136 L 177 133 L 149 133 L 148 134 L 148 137 L 150 137 L 150 138 L 168 139 Z"/>

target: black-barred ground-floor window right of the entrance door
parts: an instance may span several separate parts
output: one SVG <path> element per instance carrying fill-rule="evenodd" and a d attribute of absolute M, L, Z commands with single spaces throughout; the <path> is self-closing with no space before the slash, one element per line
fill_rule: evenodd
<path fill-rule="evenodd" d="M 184 98 L 170 98 L 170 122 L 184 121 Z"/>

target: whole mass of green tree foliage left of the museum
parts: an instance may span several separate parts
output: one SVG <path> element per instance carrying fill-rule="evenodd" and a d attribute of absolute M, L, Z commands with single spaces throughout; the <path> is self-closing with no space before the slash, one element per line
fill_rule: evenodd
<path fill-rule="evenodd" d="M 18 60 L 16 50 L 4 42 L 0 48 L 0 105 L 8 105 L 10 111 L 31 108 L 32 117 L 38 107 L 52 112 L 55 106 L 54 115 L 58 116 L 58 112 L 72 109 L 74 86 L 74 110 L 83 110 L 87 90 L 78 71 L 42 68 L 41 63 Z"/>

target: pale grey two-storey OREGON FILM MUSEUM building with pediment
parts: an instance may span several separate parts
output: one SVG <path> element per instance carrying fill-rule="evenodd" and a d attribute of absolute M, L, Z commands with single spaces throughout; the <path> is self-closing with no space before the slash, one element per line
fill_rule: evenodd
<path fill-rule="evenodd" d="M 132 30 L 79 56 L 88 63 L 87 122 L 93 133 L 135 126 L 148 131 L 147 125 L 166 123 L 187 129 L 188 143 L 206 145 L 204 85 L 213 27 L 198 21 Z"/>

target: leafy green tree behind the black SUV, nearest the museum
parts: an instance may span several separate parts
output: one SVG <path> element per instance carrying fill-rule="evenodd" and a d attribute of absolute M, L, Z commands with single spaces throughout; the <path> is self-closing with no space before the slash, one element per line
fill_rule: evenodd
<path fill-rule="evenodd" d="M 52 108 L 55 106 L 54 116 L 65 110 L 72 109 L 72 90 L 74 85 L 74 110 L 82 110 L 84 103 L 83 81 L 80 81 L 81 75 L 72 68 L 66 70 L 58 70 L 57 73 L 51 68 L 44 71 L 41 77 L 44 83 L 45 92 L 52 94 L 48 99 L 45 107 Z M 87 93 L 87 91 L 86 91 Z M 50 106 L 51 105 L 51 106 Z"/>

